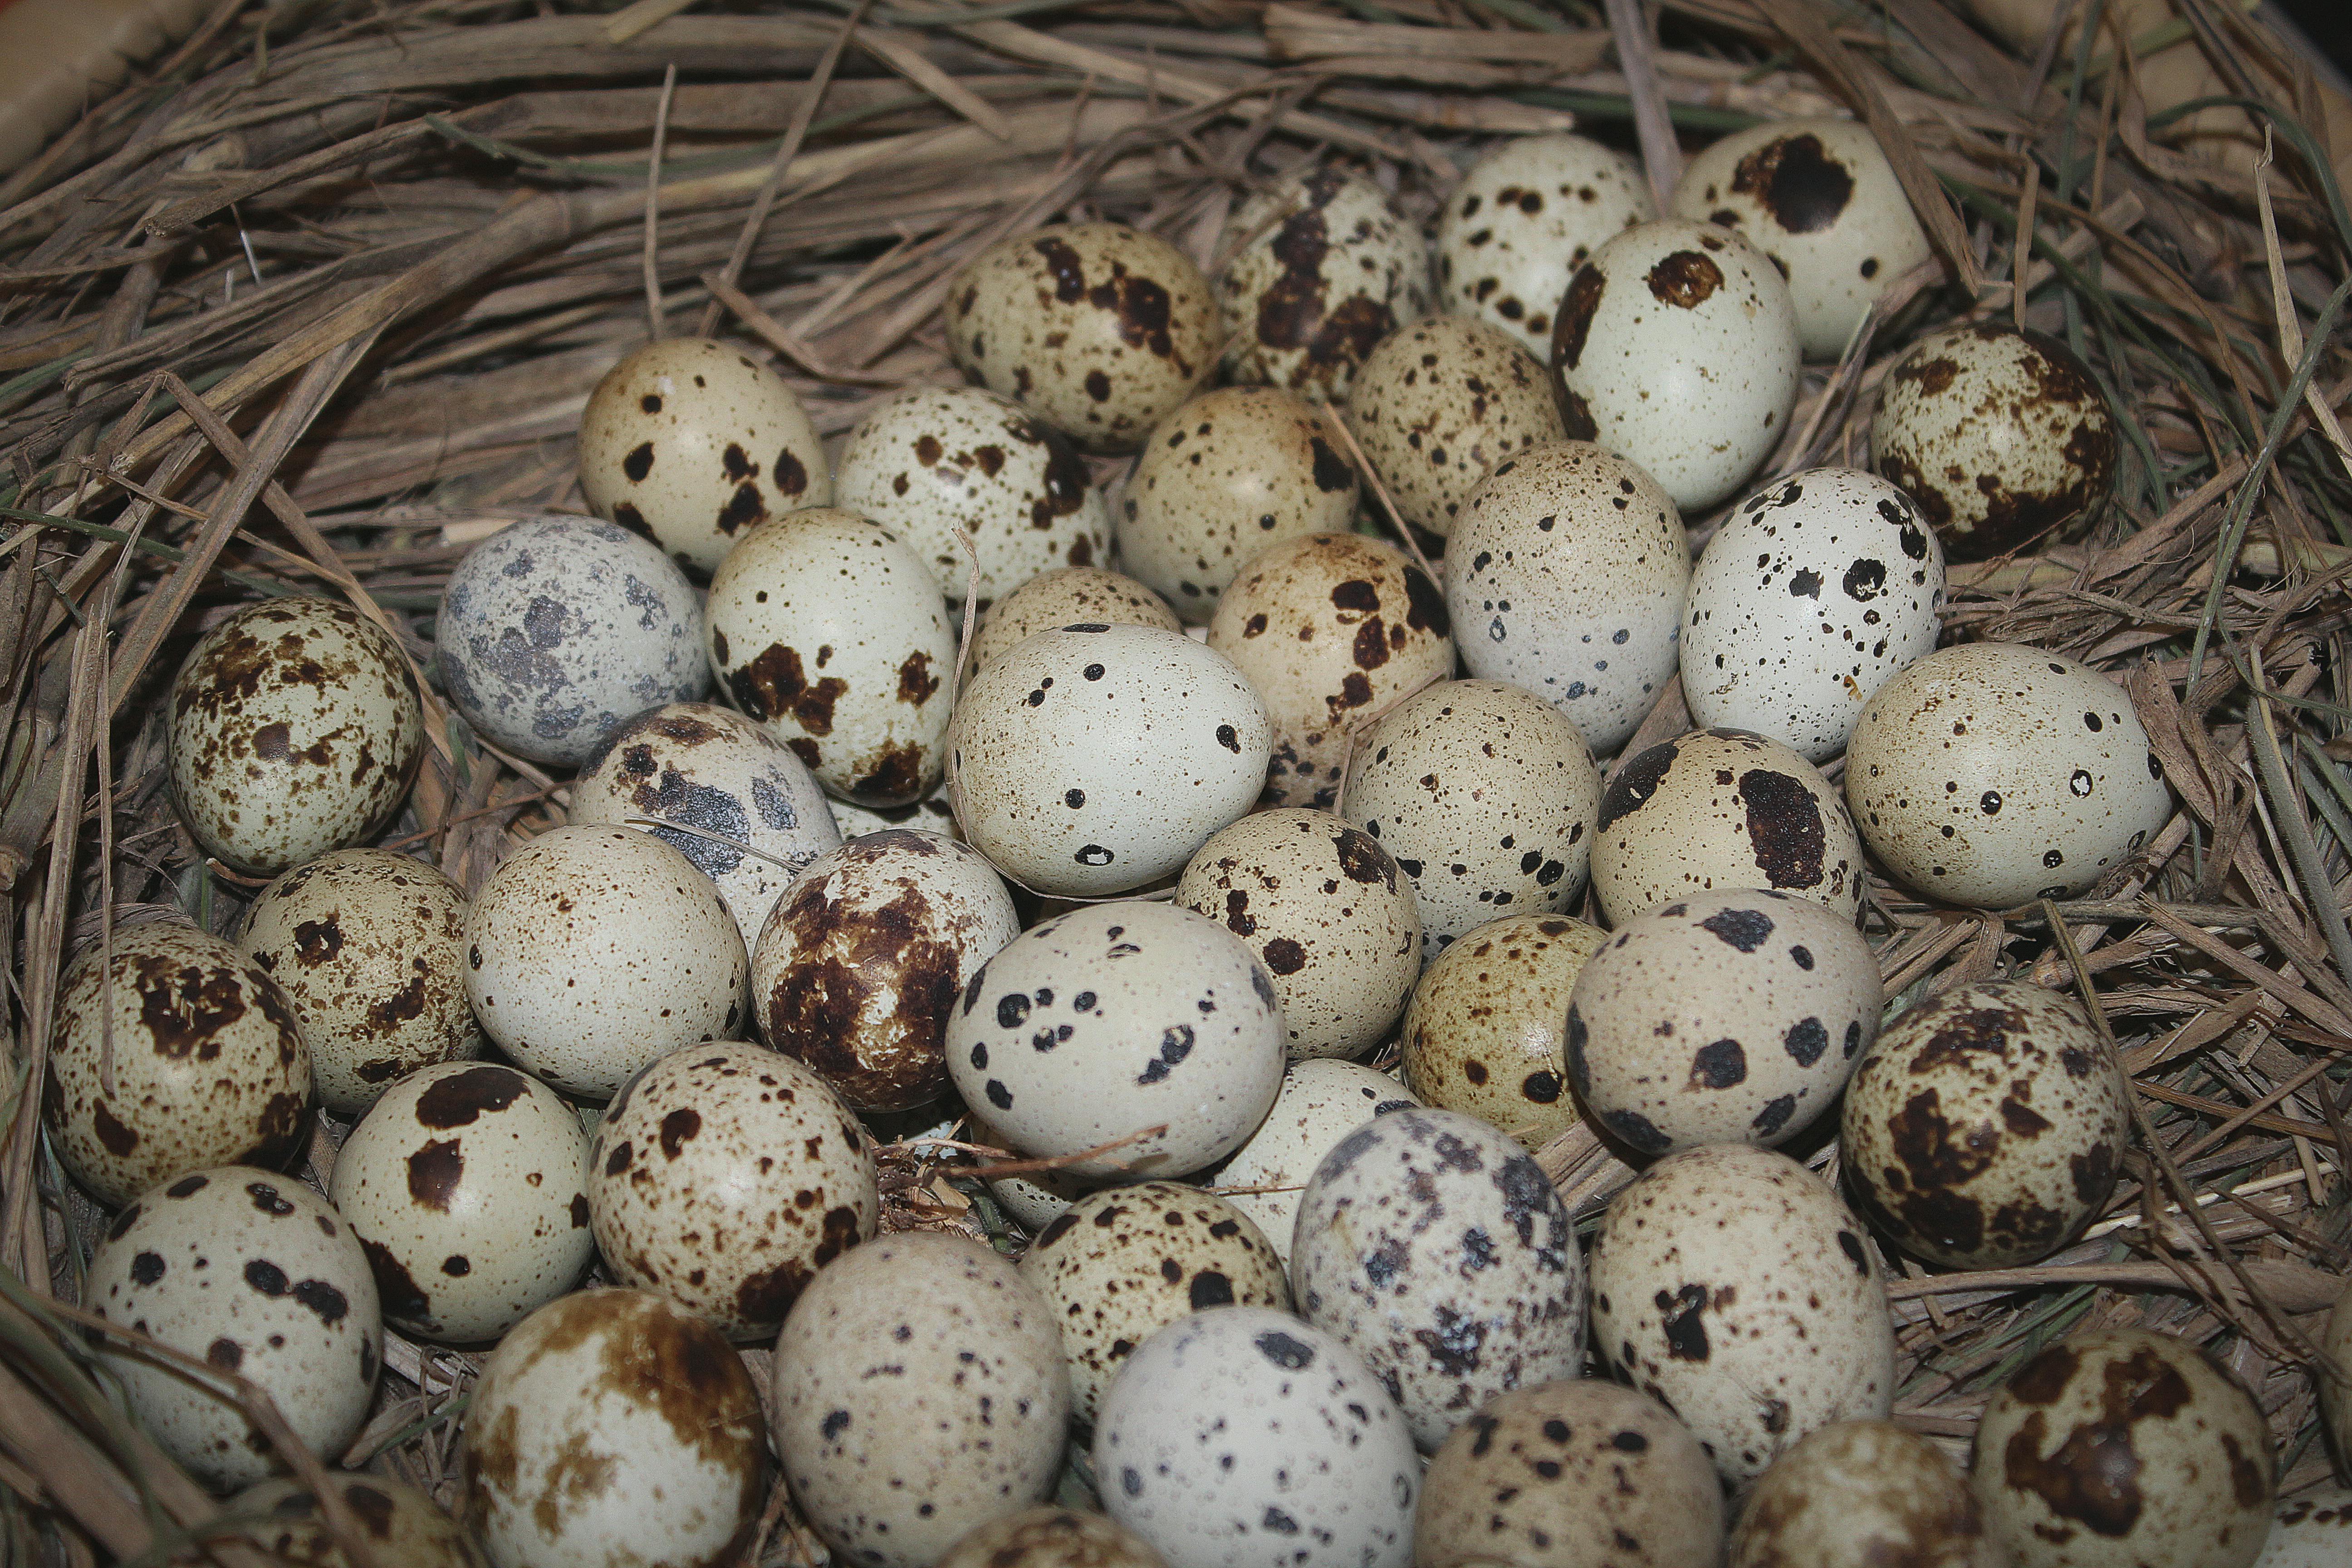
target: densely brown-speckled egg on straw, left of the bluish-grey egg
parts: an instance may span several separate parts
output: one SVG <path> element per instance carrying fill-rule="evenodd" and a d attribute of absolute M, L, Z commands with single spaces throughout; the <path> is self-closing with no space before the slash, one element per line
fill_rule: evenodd
<path fill-rule="evenodd" d="M 423 733 L 390 632 L 332 599 L 263 599 L 172 679 L 172 797 L 207 856 L 275 877 L 374 837 Z"/>

